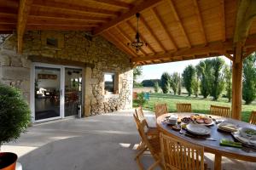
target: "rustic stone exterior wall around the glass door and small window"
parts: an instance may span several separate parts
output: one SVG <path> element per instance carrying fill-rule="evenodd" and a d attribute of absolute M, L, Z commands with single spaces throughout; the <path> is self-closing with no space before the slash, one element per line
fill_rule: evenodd
<path fill-rule="evenodd" d="M 47 47 L 45 37 L 57 38 L 58 47 Z M 15 34 L 2 42 L 0 82 L 20 88 L 28 101 L 32 62 L 27 58 L 39 56 L 45 59 L 69 59 L 95 65 L 93 68 L 84 67 L 85 116 L 131 108 L 133 74 L 129 56 L 103 37 L 91 39 L 83 31 L 28 31 L 24 36 L 23 54 L 17 54 L 16 49 Z M 118 94 L 104 94 L 103 75 L 109 71 L 118 75 Z"/>

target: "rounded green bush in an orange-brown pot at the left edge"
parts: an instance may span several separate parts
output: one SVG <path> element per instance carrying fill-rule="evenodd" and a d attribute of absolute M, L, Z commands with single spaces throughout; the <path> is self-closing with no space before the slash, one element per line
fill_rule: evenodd
<path fill-rule="evenodd" d="M 30 124 L 30 109 L 20 90 L 0 83 L 0 149 L 26 132 Z M 10 152 L 0 152 L 0 169 L 15 170 L 17 156 Z"/>

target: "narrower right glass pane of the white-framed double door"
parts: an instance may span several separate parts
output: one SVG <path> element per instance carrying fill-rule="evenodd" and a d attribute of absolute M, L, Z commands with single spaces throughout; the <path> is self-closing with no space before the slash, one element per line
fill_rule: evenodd
<path fill-rule="evenodd" d="M 65 69 L 65 116 L 79 115 L 82 103 L 82 69 Z"/>

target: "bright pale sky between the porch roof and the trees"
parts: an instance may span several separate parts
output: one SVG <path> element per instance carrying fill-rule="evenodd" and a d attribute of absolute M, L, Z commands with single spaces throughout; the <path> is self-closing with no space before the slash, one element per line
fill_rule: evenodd
<path fill-rule="evenodd" d="M 221 56 L 227 65 L 230 65 L 230 59 Z M 211 59 L 211 58 L 208 58 Z M 142 76 L 137 78 L 137 82 L 142 82 L 146 79 L 160 79 L 163 72 L 172 74 L 173 72 L 182 73 L 186 66 L 197 65 L 201 60 L 204 59 L 191 59 L 186 61 L 177 61 L 172 63 L 164 63 L 158 65 L 144 65 Z"/>

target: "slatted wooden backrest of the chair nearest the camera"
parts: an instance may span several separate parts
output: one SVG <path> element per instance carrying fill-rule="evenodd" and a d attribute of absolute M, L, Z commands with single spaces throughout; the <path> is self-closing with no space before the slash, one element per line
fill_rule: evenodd
<path fill-rule="evenodd" d="M 204 148 L 160 133 L 161 154 L 166 169 L 204 169 Z"/>

